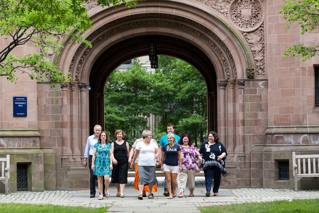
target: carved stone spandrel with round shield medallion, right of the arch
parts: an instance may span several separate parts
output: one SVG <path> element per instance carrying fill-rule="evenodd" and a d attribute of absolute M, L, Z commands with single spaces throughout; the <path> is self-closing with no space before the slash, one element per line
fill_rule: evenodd
<path fill-rule="evenodd" d="M 255 62 L 257 75 L 265 74 L 263 0 L 196 0 L 232 21 L 244 36 Z"/>

